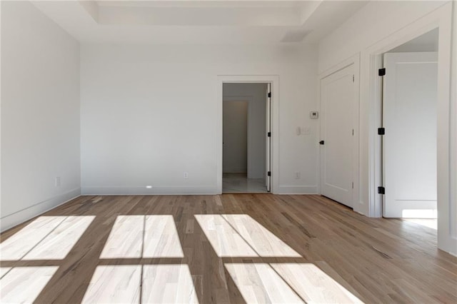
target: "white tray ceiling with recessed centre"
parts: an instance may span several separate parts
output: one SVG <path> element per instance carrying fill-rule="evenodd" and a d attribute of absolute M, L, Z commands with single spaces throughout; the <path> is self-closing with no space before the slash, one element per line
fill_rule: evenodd
<path fill-rule="evenodd" d="M 81 43 L 313 44 L 367 1 L 33 1 Z"/>

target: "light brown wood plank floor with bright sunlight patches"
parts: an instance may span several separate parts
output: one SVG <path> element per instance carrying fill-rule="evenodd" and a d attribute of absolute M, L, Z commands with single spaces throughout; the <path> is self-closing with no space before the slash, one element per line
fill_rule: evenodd
<path fill-rule="evenodd" d="M 436 230 L 321 196 L 81 196 L 0 253 L 1 303 L 457 303 Z"/>

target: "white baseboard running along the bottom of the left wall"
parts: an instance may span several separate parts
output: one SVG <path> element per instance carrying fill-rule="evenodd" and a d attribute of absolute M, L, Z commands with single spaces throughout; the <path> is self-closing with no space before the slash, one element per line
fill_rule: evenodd
<path fill-rule="evenodd" d="M 3 218 L 0 218 L 0 231 L 3 232 L 9 228 L 13 228 L 20 223 L 24 223 L 25 221 L 28 221 L 35 216 L 39 216 L 40 214 L 54 209 L 57 206 L 60 206 L 68 201 L 71 201 L 78 196 L 81 196 L 81 188 L 67 191 L 66 193 L 60 194 L 59 196 L 54 196 L 53 198 L 49 198 L 46 201 L 36 203 L 29 208 L 16 211 L 15 213 L 11 213 L 8 216 L 4 216 Z"/>

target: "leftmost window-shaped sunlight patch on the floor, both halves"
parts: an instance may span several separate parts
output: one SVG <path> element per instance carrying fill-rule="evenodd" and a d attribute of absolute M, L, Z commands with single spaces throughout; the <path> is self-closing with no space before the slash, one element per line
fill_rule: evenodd
<path fill-rule="evenodd" d="M 0 244 L 2 261 L 63 260 L 95 216 L 40 216 Z M 0 303 L 31 303 L 58 266 L 0 268 Z"/>

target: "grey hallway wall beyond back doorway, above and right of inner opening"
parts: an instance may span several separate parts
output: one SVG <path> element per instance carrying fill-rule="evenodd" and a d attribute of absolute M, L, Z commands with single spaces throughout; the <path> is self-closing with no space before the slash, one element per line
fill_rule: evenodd
<path fill-rule="evenodd" d="M 266 83 L 224 83 L 224 102 L 249 97 L 248 178 L 265 178 Z"/>

